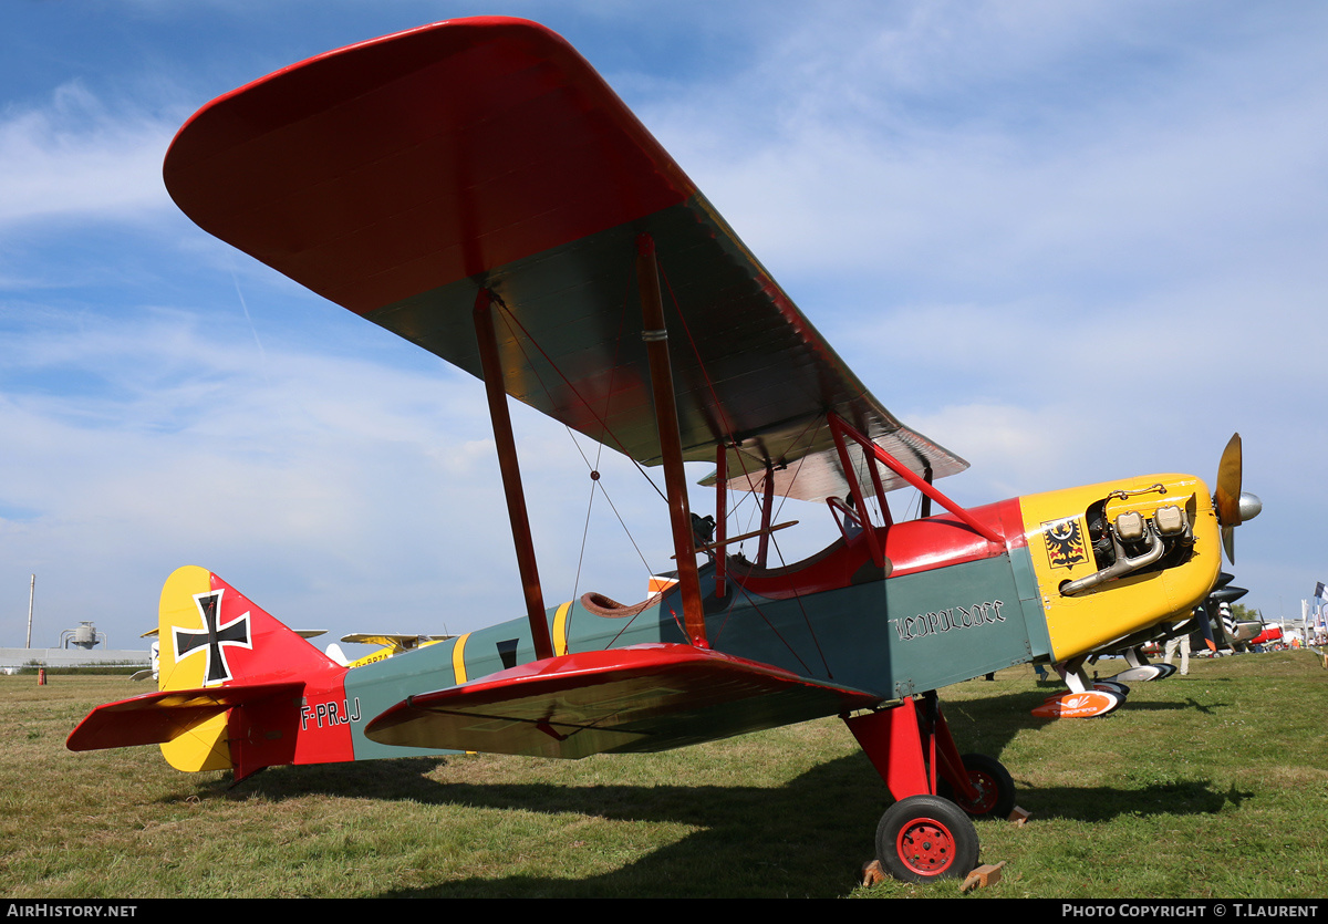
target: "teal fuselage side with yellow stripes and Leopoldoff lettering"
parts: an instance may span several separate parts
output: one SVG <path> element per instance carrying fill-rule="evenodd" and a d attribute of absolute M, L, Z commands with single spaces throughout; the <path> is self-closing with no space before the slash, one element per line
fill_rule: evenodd
<path fill-rule="evenodd" d="M 904 524 L 906 526 L 906 524 Z M 894 527 L 899 530 L 900 527 Z M 831 550 L 861 556 L 861 550 Z M 818 556 L 821 558 L 821 556 Z M 797 572 L 797 566 L 791 570 Z M 882 578 L 858 567 L 846 585 L 764 597 L 736 584 L 716 597 L 714 566 L 701 568 L 710 647 L 802 677 L 866 690 L 882 701 L 938 689 L 1050 652 L 1028 550 L 918 568 Z M 757 583 L 757 581 L 748 581 Z M 599 609 L 599 611 L 596 611 Z M 592 595 L 546 617 L 556 653 L 685 644 L 677 587 L 603 615 Z M 618 611 L 622 612 L 622 611 Z M 364 735 L 376 716 L 412 694 L 450 688 L 537 658 L 527 620 L 515 619 L 453 640 L 352 668 L 356 759 L 440 753 L 381 745 Z"/>

